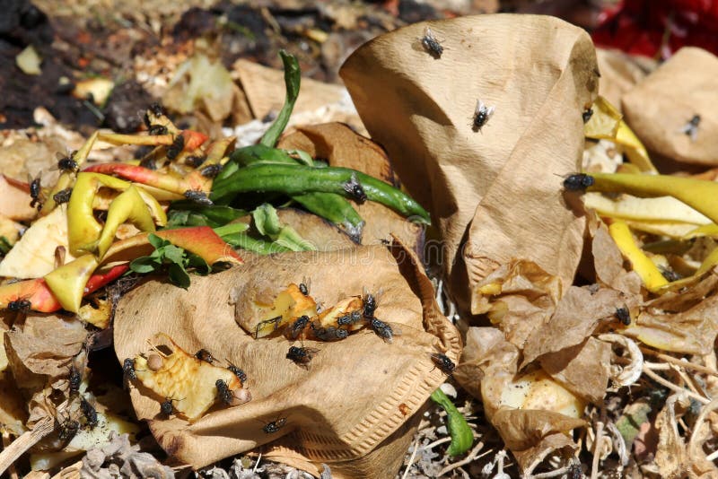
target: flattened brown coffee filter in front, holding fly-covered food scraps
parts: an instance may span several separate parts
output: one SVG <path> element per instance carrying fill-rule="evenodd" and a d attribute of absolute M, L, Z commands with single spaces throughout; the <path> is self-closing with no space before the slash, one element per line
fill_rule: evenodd
<path fill-rule="evenodd" d="M 312 297 L 329 307 L 363 288 L 379 295 L 376 317 L 401 331 L 387 344 L 371 329 L 332 343 L 304 341 L 320 350 L 308 370 L 285 358 L 284 336 L 254 339 L 240 326 L 252 285 L 311 283 Z M 240 303 L 239 305 L 237 303 Z M 196 422 L 159 419 L 159 403 L 133 388 L 139 419 L 163 449 L 195 467 L 273 443 L 275 456 L 291 465 L 327 463 L 336 477 L 381 476 L 398 469 L 426 399 L 444 380 L 430 354 L 460 354 L 456 329 L 442 316 L 433 287 L 416 256 L 400 243 L 245 257 L 245 264 L 208 277 L 193 277 L 188 291 L 150 281 L 128 292 L 115 316 L 118 360 L 147 348 L 157 333 L 192 353 L 204 348 L 215 363 L 230 361 L 247 373 L 252 400 L 215 407 Z M 399 407 L 402 405 L 402 407 Z M 402 410 L 408 407 L 405 416 Z M 268 422 L 286 425 L 267 434 Z M 377 449 L 372 453 L 372 450 Z M 388 457 L 386 451 L 392 455 Z M 288 452 L 287 452 L 288 451 Z M 272 451 L 270 451 L 271 453 Z M 376 457 L 370 455 L 375 454 Z M 271 456 L 271 454 L 270 454 Z M 381 457 L 381 458 L 380 458 Z M 310 462 L 311 461 L 311 462 Z M 310 469 L 311 470 L 311 469 Z M 314 471 L 312 471 L 314 472 Z"/>

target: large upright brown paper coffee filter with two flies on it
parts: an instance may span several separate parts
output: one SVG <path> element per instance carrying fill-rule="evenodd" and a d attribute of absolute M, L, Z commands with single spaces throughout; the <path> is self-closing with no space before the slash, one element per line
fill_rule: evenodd
<path fill-rule="evenodd" d="M 421 46 L 426 26 L 441 58 Z M 582 112 L 598 93 L 588 34 L 552 17 L 482 15 L 395 30 L 357 49 L 340 74 L 372 138 L 442 235 L 460 309 L 512 257 L 571 283 L 585 222 L 561 176 L 583 151 Z M 495 106 L 480 132 L 477 100 Z"/>

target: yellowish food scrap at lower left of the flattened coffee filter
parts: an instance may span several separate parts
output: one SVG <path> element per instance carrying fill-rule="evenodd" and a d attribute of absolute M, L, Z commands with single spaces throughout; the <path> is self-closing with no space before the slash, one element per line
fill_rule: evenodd
<path fill-rule="evenodd" d="M 166 398 L 172 400 L 176 414 L 187 418 L 189 422 L 205 414 L 217 399 L 217 379 L 226 382 L 232 392 L 241 388 L 240 379 L 231 370 L 200 361 L 182 350 L 171 338 L 164 337 L 172 353 L 162 355 L 160 369 L 150 369 L 147 359 L 138 355 L 135 358 L 135 370 L 137 379 L 151 389 L 161 402 Z"/>

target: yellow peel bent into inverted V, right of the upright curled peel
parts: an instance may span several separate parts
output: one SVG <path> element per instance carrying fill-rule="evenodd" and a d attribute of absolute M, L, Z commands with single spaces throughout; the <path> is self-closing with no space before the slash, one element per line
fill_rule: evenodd
<path fill-rule="evenodd" d="M 149 195 L 148 195 L 149 196 Z M 120 224 L 131 222 L 140 231 L 154 231 L 154 221 L 147 205 L 144 204 L 136 187 L 128 187 L 124 193 L 112 200 L 107 210 L 107 221 L 97 242 L 97 253 L 103 257 L 107 252 Z"/>

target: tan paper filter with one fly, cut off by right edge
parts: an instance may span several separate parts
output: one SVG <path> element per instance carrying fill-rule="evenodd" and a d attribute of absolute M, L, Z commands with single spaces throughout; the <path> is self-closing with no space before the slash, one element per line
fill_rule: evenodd
<path fill-rule="evenodd" d="M 702 48 L 681 48 L 621 97 L 628 125 L 649 151 L 674 161 L 718 165 L 716 76 L 718 58 Z M 685 128 L 694 115 L 700 123 L 691 138 Z"/>

